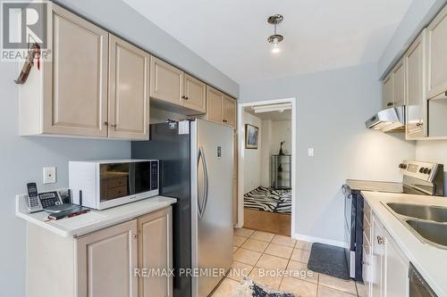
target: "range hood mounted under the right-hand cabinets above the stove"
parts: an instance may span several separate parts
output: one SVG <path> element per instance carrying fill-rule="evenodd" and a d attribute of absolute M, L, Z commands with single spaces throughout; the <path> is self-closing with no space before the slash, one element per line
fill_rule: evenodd
<path fill-rule="evenodd" d="M 405 130 L 405 106 L 387 108 L 369 118 L 367 128 L 382 132 L 401 132 Z"/>

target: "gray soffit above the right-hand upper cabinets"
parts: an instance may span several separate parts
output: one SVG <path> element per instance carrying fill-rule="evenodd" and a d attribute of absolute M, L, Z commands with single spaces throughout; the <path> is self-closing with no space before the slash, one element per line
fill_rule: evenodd
<path fill-rule="evenodd" d="M 414 0 L 409 6 L 401 24 L 386 46 L 384 54 L 378 62 L 380 78 L 392 68 L 413 43 L 419 32 L 434 18 L 436 13 L 447 3 L 447 0 Z"/>

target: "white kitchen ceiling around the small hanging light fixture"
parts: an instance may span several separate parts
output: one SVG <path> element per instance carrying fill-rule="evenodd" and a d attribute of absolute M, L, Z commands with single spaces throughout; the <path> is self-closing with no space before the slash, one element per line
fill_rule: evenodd
<path fill-rule="evenodd" d="M 377 62 L 412 0 L 122 0 L 240 84 Z M 281 13 L 272 54 L 269 15 Z"/>

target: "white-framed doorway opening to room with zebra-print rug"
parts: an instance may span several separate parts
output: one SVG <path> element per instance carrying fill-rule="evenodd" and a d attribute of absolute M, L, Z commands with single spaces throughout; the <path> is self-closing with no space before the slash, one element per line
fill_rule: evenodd
<path fill-rule="evenodd" d="M 236 227 L 295 234 L 296 128 L 295 98 L 238 105 Z"/>

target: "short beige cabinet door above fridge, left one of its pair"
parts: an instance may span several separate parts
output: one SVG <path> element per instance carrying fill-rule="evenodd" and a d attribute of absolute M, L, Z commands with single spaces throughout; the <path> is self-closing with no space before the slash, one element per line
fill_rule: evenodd
<path fill-rule="evenodd" d="M 183 71 L 150 57 L 150 96 L 183 106 Z"/>

